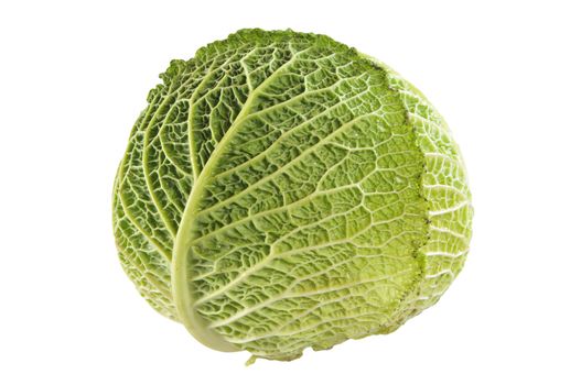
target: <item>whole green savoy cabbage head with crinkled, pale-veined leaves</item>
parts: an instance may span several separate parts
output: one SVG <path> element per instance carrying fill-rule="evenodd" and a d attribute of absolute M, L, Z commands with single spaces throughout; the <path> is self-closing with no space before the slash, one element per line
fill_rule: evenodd
<path fill-rule="evenodd" d="M 330 37 L 243 30 L 174 61 L 115 183 L 121 264 L 204 344 L 292 360 L 433 305 L 471 238 L 445 122 Z"/>

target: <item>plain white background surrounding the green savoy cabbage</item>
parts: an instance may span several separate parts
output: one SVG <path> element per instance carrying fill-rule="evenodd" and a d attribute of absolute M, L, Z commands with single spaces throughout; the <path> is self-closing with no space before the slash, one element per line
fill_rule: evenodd
<path fill-rule="evenodd" d="M 580 384 L 574 3 L 2 2 L 0 383 Z M 138 296 L 110 195 L 169 61 L 254 26 L 329 34 L 416 84 L 463 151 L 476 216 L 463 273 L 396 333 L 245 367 Z"/>

